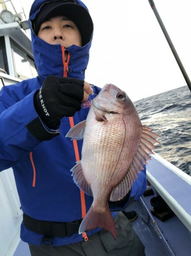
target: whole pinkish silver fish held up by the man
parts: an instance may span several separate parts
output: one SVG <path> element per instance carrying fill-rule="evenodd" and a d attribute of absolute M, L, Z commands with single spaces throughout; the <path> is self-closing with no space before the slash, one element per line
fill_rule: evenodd
<path fill-rule="evenodd" d="M 67 137 L 84 138 L 81 161 L 71 171 L 79 188 L 93 196 L 79 233 L 101 227 L 116 239 L 108 201 L 126 196 L 143 164 L 151 159 L 159 136 L 142 126 L 126 93 L 107 84 L 92 101 L 87 120 L 70 129 Z"/>

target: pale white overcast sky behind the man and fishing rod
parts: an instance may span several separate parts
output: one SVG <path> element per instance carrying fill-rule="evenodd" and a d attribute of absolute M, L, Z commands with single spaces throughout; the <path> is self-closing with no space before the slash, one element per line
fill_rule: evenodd
<path fill-rule="evenodd" d="M 14 0 L 13 0 L 14 1 Z M 20 0 L 29 9 L 33 0 Z M 148 0 L 84 0 L 94 22 L 86 81 L 135 101 L 186 85 Z M 154 0 L 191 78 L 191 0 Z"/>

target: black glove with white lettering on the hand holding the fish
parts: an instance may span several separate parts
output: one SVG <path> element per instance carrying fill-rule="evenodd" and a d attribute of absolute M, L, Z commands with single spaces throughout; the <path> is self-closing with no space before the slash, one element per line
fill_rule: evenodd
<path fill-rule="evenodd" d="M 56 127 L 64 116 L 73 116 L 81 109 L 84 81 L 76 78 L 48 76 L 34 95 L 34 107 L 49 127 Z"/>

